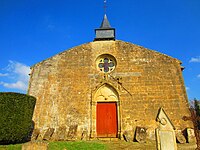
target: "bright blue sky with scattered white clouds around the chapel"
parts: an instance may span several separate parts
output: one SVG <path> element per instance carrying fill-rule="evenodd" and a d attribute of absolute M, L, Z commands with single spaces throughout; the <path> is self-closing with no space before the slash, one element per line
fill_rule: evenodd
<path fill-rule="evenodd" d="M 0 0 L 0 91 L 26 93 L 29 67 L 91 42 L 104 0 Z M 189 99 L 200 99 L 200 0 L 107 0 L 124 40 L 183 62 Z"/>

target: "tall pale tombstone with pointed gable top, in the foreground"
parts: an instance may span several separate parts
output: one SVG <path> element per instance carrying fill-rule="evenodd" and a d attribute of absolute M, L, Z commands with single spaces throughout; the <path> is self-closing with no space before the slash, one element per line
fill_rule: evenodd
<path fill-rule="evenodd" d="M 165 111 L 160 108 L 157 116 L 159 127 L 156 129 L 156 143 L 158 150 L 177 150 L 175 127 Z"/>

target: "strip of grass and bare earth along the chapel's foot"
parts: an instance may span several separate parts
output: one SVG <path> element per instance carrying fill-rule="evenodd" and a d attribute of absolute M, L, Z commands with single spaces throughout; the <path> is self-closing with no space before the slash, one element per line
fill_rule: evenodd
<path fill-rule="evenodd" d="M 194 150 L 195 143 L 177 144 L 178 150 Z M 16 145 L 0 145 L 0 150 L 156 150 L 156 142 L 125 141 L 36 141 Z"/>

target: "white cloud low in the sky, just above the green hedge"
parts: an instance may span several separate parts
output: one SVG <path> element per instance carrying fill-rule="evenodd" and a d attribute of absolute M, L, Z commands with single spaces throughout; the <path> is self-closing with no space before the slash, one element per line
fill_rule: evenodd
<path fill-rule="evenodd" d="M 8 73 L 2 74 L 2 76 L 6 76 L 8 81 L 1 81 L 0 85 L 9 89 L 17 89 L 21 91 L 27 90 L 30 73 L 29 66 L 10 60 L 5 71 Z"/>

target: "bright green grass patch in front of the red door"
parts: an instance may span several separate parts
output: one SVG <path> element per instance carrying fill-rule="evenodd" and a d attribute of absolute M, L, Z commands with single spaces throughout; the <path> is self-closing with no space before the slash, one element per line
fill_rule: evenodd
<path fill-rule="evenodd" d="M 106 150 L 103 143 L 79 141 L 79 142 L 49 142 L 49 150 Z"/>

